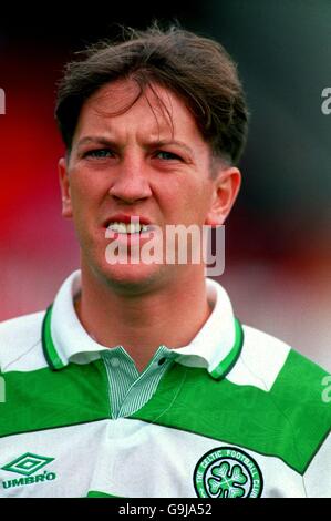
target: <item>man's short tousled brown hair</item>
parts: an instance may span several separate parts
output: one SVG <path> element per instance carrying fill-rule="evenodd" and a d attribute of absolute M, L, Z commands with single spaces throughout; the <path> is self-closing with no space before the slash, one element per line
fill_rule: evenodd
<path fill-rule="evenodd" d="M 65 68 L 55 119 L 68 151 L 84 102 L 108 82 L 132 79 L 139 86 L 133 103 L 153 82 L 172 90 L 193 113 L 213 154 L 237 164 L 246 143 L 248 110 L 236 64 L 223 45 L 178 25 L 162 30 L 154 23 L 123 34 L 120 42 L 91 45 L 83 60 Z"/>

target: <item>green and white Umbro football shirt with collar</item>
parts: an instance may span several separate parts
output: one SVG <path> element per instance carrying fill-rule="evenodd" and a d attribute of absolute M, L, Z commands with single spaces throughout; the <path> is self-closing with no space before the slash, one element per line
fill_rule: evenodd
<path fill-rule="evenodd" d="M 331 497 L 328 375 L 206 284 L 204 327 L 142 374 L 84 330 L 80 272 L 0 325 L 0 497 Z"/>

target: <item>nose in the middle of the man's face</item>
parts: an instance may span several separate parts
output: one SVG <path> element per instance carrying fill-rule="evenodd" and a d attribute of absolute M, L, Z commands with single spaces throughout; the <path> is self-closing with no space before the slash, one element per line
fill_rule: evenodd
<path fill-rule="evenodd" d="M 108 191 L 116 200 L 135 203 L 151 197 L 152 190 L 146 175 L 146 165 L 142 157 L 125 157 L 122 160 Z"/>

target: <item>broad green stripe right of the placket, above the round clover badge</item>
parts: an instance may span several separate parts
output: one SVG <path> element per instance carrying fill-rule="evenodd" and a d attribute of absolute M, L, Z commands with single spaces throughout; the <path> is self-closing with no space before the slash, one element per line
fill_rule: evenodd
<path fill-rule="evenodd" d="M 330 431 L 331 408 L 321 400 L 324 375 L 291 351 L 267 392 L 175 365 L 153 399 L 131 418 L 275 456 L 302 473 Z"/>

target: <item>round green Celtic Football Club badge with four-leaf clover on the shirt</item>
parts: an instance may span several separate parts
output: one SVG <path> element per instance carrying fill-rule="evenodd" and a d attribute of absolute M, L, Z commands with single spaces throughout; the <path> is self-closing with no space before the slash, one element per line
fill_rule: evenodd
<path fill-rule="evenodd" d="M 259 498 L 263 480 L 256 461 L 244 450 L 219 447 L 198 461 L 194 486 L 199 498 Z"/>

